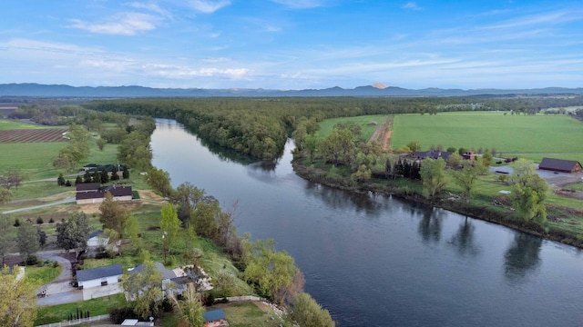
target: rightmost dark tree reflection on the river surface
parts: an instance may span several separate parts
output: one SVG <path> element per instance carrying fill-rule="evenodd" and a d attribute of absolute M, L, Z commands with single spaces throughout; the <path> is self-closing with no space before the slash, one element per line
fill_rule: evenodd
<path fill-rule="evenodd" d="M 528 272 L 536 271 L 540 264 L 540 247 L 543 239 L 526 233 L 516 233 L 504 255 L 506 278 L 511 282 L 524 280 Z"/>

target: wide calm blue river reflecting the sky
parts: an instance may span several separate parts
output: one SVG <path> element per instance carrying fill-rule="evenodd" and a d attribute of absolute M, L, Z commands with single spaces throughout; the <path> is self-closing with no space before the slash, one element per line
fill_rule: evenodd
<path fill-rule="evenodd" d="M 338 326 L 583 326 L 579 249 L 394 197 L 298 177 L 292 142 L 278 163 L 240 163 L 157 120 L 153 164 L 273 238 Z"/>

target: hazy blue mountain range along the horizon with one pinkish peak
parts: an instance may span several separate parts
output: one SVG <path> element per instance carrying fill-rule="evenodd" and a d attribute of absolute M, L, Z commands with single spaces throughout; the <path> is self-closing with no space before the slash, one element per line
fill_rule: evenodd
<path fill-rule="evenodd" d="M 70 86 L 64 84 L 0 84 L 0 96 L 33 97 L 209 97 L 209 96 L 463 96 L 504 94 L 583 94 L 583 88 L 545 87 L 535 89 L 442 89 L 419 90 L 382 83 L 344 89 L 339 86 L 324 89 L 270 90 L 270 89 L 203 89 L 152 88 L 145 86 Z"/>

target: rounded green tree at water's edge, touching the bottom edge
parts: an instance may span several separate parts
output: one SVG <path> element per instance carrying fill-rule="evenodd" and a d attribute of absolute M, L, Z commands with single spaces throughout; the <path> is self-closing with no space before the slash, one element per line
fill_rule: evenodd
<path fill-rule="evenodd" d="M 302 292 L 293 300 L 290 317 L 300 326 L 333 327 L 336 325 L 332 321 L 330 312 L 322 309 L 320 304 L 305 292 Z"/>

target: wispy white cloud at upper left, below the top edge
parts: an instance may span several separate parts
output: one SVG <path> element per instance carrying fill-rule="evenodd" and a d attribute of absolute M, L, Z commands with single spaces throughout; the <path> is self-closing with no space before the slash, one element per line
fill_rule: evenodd
<path fill-rule="evenodd" d="M 141 13 L 119 13 L 104 23 L 89 23 L 80 19 L 72 19 L 71 22 L 73 25 L 69 27 L 96 34 L 137 35 L 155 29 L 160 23 L 160 18 Z"/>

